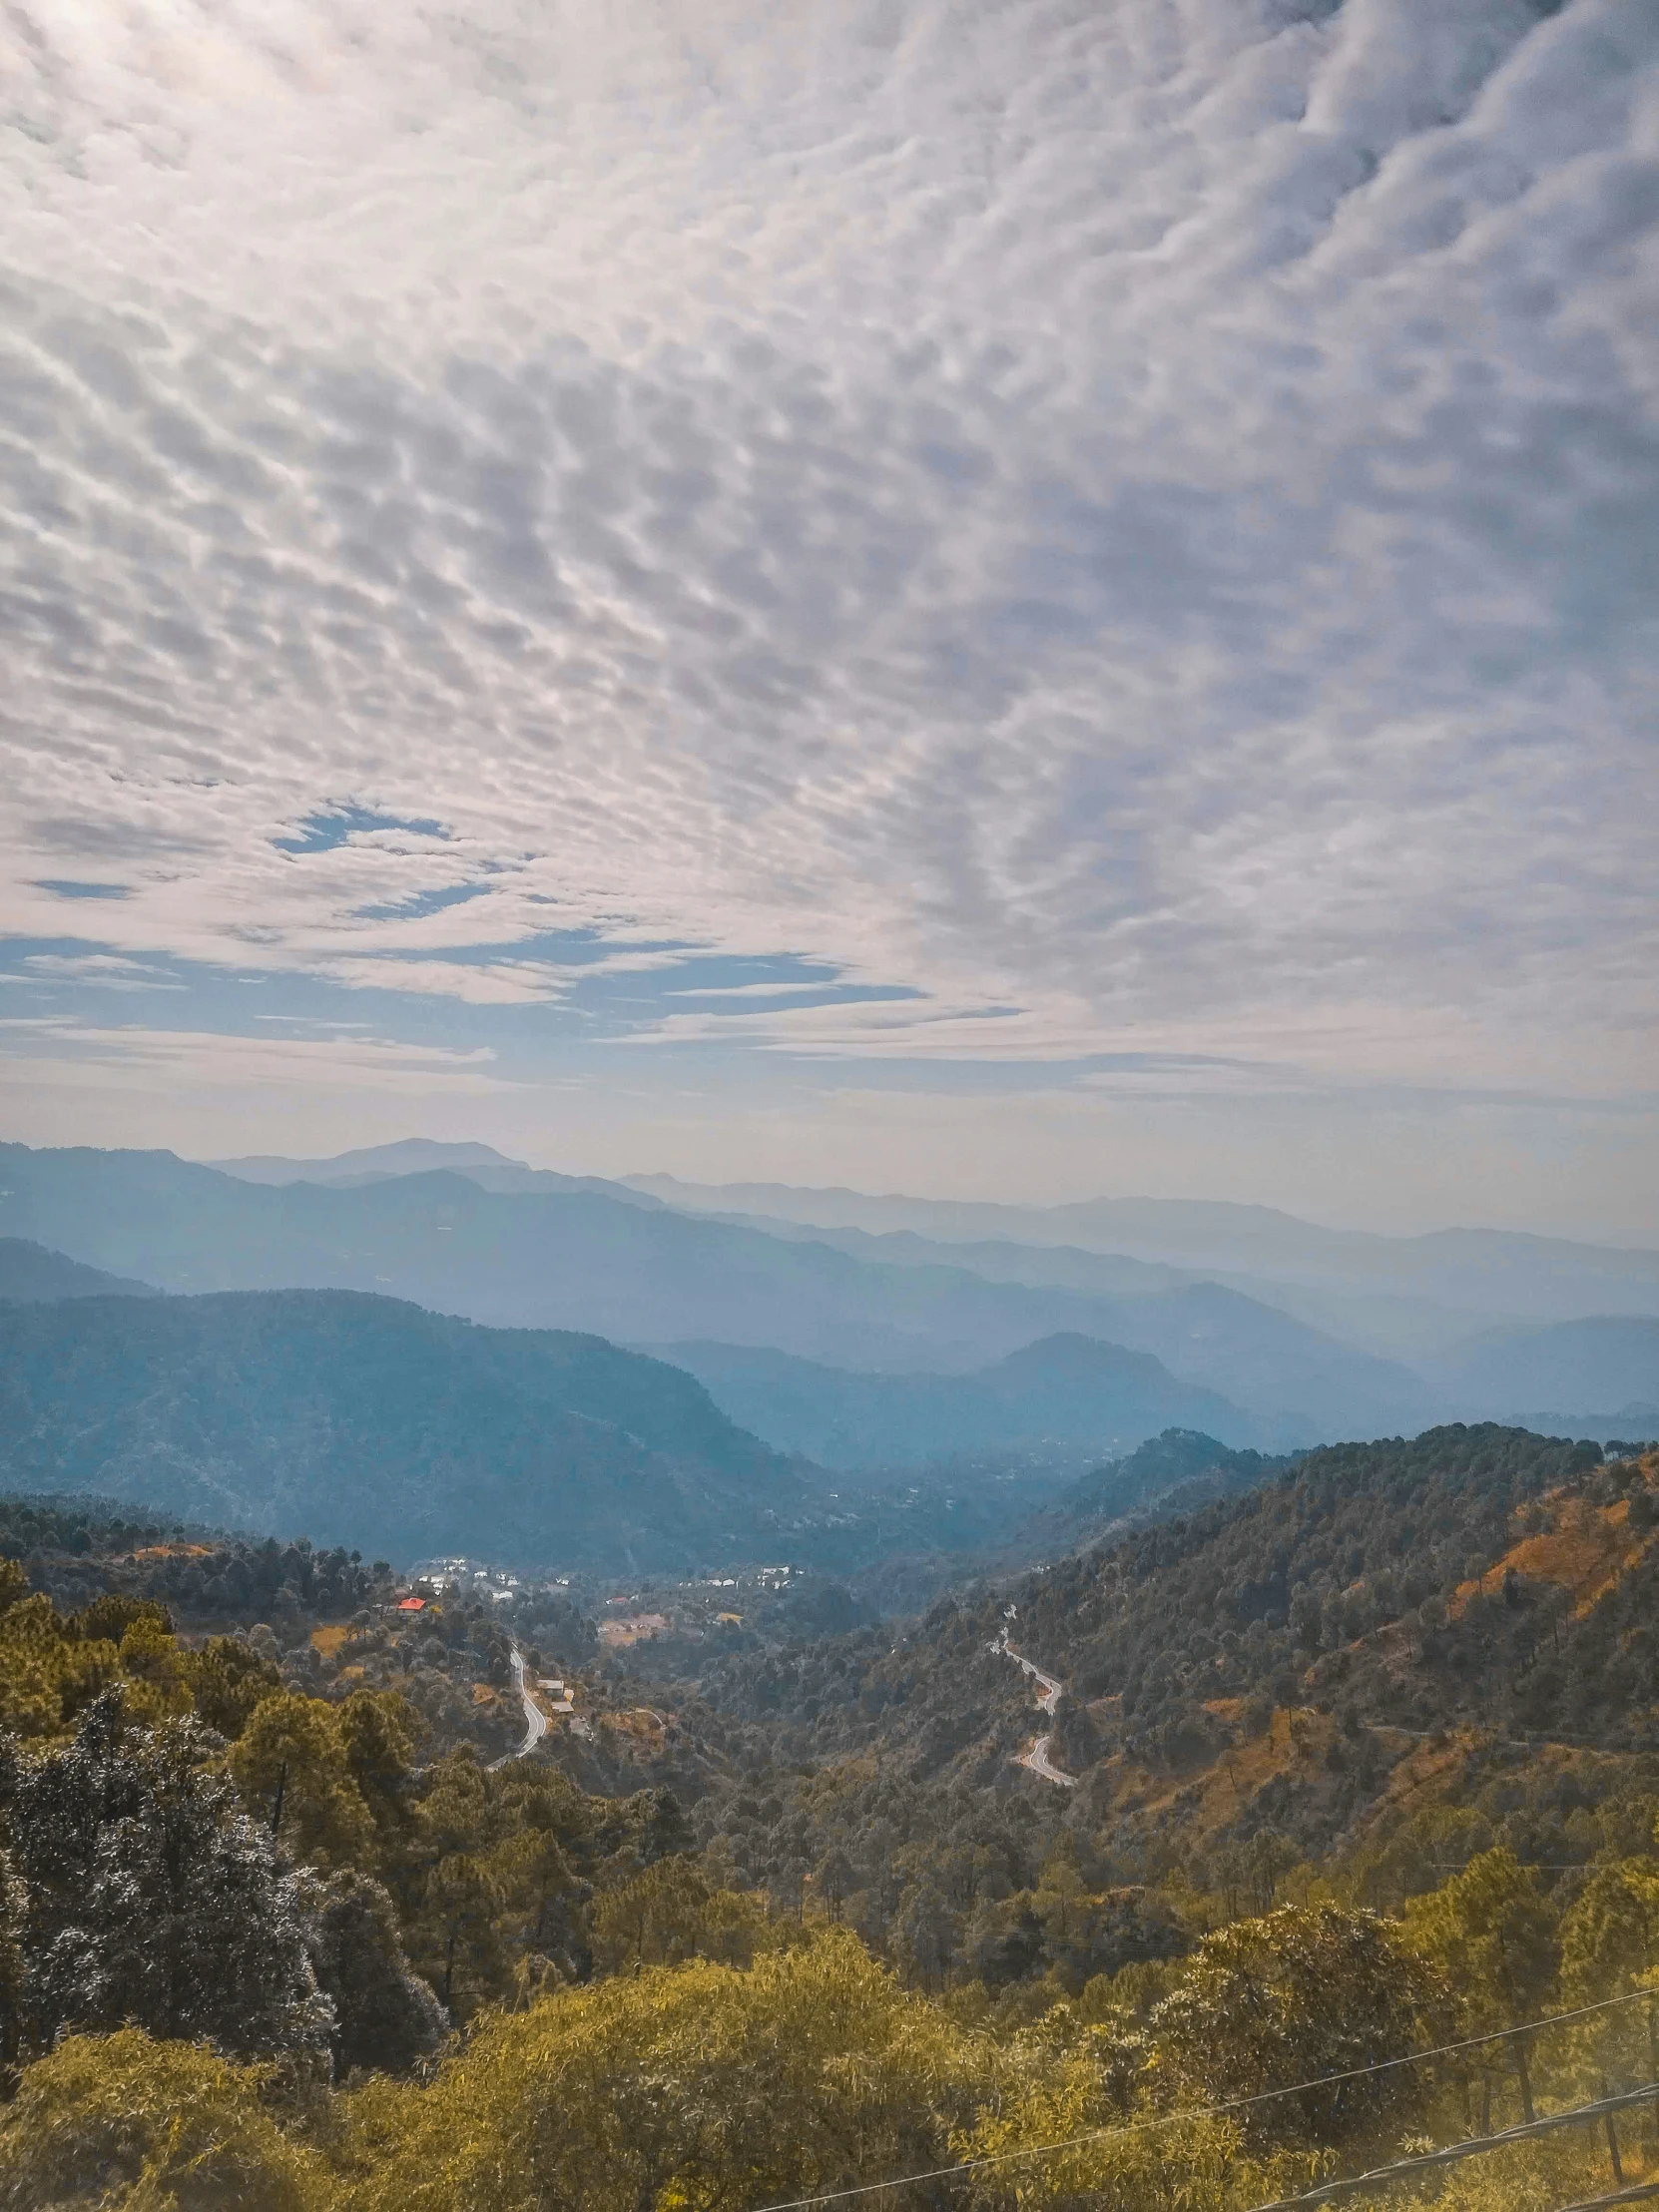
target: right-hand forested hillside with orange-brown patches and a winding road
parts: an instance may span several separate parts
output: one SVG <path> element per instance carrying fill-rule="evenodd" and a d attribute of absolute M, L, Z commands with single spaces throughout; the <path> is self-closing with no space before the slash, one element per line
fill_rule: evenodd
<path fill-rule="evenodd" d="M 712 1655 L 695 1697 L 754 1781 L 699 1827 L 781 1893 L 836 1854 L 867 1931 L 927 1907 L 953 1960 L 978 1889 L 936 1854 L 989 1851 L 1018 1891 L 1062 1827 L 1102 1878 L 1181 1893 L 1363 1856 L 1440 1801 L 1489 1807 L 1464 1838 L 1575 1863 L 1575 1809 L 1659 1776 L 1657 1482 L 1524 1431 L 1340 1447 L 898 1635 Z M 1066 1686 L 1053 1723 L 1004 1635 Z M 650 1648 L 630 1668 L 646 1694 Z M 1013 1763 L 1040 1725 L 1075 1792 Z"/>

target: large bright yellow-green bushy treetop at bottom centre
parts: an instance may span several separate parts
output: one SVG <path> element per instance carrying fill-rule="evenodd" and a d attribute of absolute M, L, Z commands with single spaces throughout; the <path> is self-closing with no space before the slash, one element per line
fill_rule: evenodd
<path fill-rule="evenodd" d="M 352 2205 L 739 2212 L 945 2163 L 989 2064 L 845 1931 L 750 1973 L 646 1969 L 489 2022 L 425 2088 L 365 2088 Z"/>

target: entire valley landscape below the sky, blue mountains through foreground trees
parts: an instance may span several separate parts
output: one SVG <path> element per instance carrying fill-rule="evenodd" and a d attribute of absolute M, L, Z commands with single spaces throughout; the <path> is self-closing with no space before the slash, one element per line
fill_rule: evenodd
<path fill-rule="evenodd" d="M 1164 1259 L 234 1166 L 7 1159 L 15 2201 L 84 2201 L 100 2099 L 168 2115 L 131 2172 L 179 2212 L 1002 2212 L 1006 2154 L 1035 2212 L 1263 2212 L 1604 2081 L 1659 2172 L 1652 1427 L 1420 1418 L 1639 1416 L 1655 1323 L 1471 1310 L 1409 1367 Z M 699 1267 L 739 1329 L 644 1334 Z M 551 1325 L 588 1292 L 626 1340 Z M 206 1962 L 166 1995 L 155 1929 Z M 1436 2212 L 1599 2161 L 1473 2148 Z"/>

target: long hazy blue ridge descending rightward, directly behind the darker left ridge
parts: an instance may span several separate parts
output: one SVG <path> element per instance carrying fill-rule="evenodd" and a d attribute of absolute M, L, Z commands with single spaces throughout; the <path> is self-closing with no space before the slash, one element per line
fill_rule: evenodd
<path fill-rule="evenodd" d="M 491 1190 L 484 1172 L 533 1183 Z M 639 1194 L 546 1188 L 538 1170 L 270 1186 L 170 1152 L 0 1146 L 0 1234 L 173 1292 L 369 1290 L 498 1327 L 719 1338 L 883 1371 L 973 1369 L 1071 1332 L 1150 1352 L 1179 1380 L 1234 1398 L 1285 1447 L 1420 1427 L 1433 1409 L 1400 1363 L 1217 1285 L 1113 1298 L 964 1267 L 878 1267 Z"/>

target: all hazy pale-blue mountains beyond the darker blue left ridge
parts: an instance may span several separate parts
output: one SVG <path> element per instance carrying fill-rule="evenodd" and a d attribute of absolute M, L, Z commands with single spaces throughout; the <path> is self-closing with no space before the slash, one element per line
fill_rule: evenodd
<path fill-rule="evenodd" d="M 681 1347 L 672 1356 L 703 1376 L 728 1416 L 783 1451 L 834 1467 L 849 1464 L 849 1453 L 905 1464 L 929 1449 L 1055 1438 L 1104 1455 L 1170 1425 L 1206 1429 L 1232 1447 L 1287 1451 L 1537 1407 L 1562 1409 L 1562 1425 L 1577 1433 L 1641 1433 L 1628 1420 L 1659 1402 L 1659 1321 L 1650 1316 L 1491 1325 L 1473 1307 L 1455 1321 L 1433 1307 L 1440 1321 L 1427 1349 L 1411 1360 L 1385 1358 L 1290 1312 L 1285 1283 L 1259 1283 L 1256 1296 L 1164 1256 L 982 1234 L 987 1212 L 1004 1230 L 1013 1221 L 1029 1228 L 1029 1208 L 929 1212 L 929 1201 L 845 1192 L 719 1192 L 752 1203 L 787 1197 L 803 1208 L 823 1201 L 823 1212 L 856 1199 L 865 1210 L 909 1208 L 936 1228 L 973 1230 L 951 1243 L 916 1228 L 821 1230 L 781 1217 L 686 1212 L 664 1188 L 564 1177 L 489 1146 L 427 1141 L 332 1161 L 263 1157 L 217 1168 L 170 1152 L 0 1146 L 0 1237 L 113 1272 L 124 1287 L 361 1290 L 491 1327 Z M 1053 1234 L 1104 1234 L 1099 1223 L 1117 1221 L 1128 1230 L 1139 1221 L 1150 1234 L 1148 1221 L 1170 1217 L 1170 1203 L 1102 1201 L 1044 1219 Z M 1256 1217 L 1265 1210 L 1199 1208 L 1192 1221 L 1179 1208 L 1172 1214 L 1177 1230 L 1186 1221 L 1188 1248 L 1225 1230 L 1234 1256 Z M 1533 1287 L 1515 1294 L 1522 1303 L 1542 1296 L 1546 1279 L 1564 1296 L 1573 1267 L 1579 1287 L 1621 1283 L 1635 1298 L 1652 1261 L 1469 1237 L 1509 1252 L 1517 1279 L 1533 1270 Z M 1261 1239 L 1276 1263 L 1325 1252 L 1329 1267 L 1349 1267 L 1349 1287 L 1356 1252 L 1444 1245 L 1316 1230 L 1290 1217 L 1265 1217 Z M 1170 1230 L 1166 1243 L 1175 1241 Z M 1376 1290 L 1378 1281 L 1365 1296 L 1398 1310 L 1418 1296 Z M 1294 1298 L 1314 1314 L 1338 1303 L 1336 1292 L 1307 1285 Z M 1420 1314 L 1420 1303 L 1411 1312 Z M 1020 1367 L 1018 1356 L 1055 1338 L 1093 1343 L 1091 1354 L 1075 1354 L 1093 1363 L 1086 1387 L 1075 1374 L 1044 1371 L 1055 1352 Z M 1013 1365 L 995 1376 L 1002 1363 Z M 956 1385 L 947 1389 L 942 1378 Z"/>

